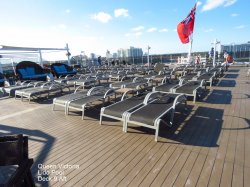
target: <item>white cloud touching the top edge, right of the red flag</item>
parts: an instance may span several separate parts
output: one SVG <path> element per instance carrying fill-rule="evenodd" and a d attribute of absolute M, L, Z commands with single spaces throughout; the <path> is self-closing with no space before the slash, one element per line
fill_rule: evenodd
<path fill-rule="evenodd" d="M 206 3 L 203 5 L 201 11 L 202 12 L 209 11 L 220 6 L 224 7 L 231 6 L 234 3 L 236 3 L 236 1 L 237 0 L 207 0 Z"/>

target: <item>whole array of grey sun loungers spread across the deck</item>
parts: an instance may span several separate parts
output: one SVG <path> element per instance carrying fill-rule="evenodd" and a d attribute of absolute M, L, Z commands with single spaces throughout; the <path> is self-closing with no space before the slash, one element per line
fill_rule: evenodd
<path fill-rule="evenodd" d="M 51 82 L 23 83 L 6 88 L 6 92 L 9 95 L 15 93 L 16 98 L 21 97 L 21 100 L 27 98 L 30 102 L 33 97 L 49 96 L 53 92 L 69 89 L 72 85 L 75 88 L 80 86 L 72 94 L 55 98 L 53 110 L 55 106 L 64 107 L 66 115 L 71 111 L 81 111 L 82 119 L 84 119 L 86 108 L 100 103 L 104 105 L 111 97 L 116 100 L 116 94 L 124 91 L 121 101 L 101 108 L 100 124 L 103 118 L 107 117 L 121 121 L 124 132 L 127 132 L 130 124 L 154 129 L 155 141 L 157 141 L 159 126 L 161 124 L 173 125 L 176 107 L 179 104 L 186 105 L 186 96 L 192 96 L 195 102 L 206 89 L 206 83 L 212 86 L 220 71 L 219 69 L 199 70 L 191 73 L 185 72 L 177 80 L 172 80 L 170 72 L 151 72 L 147 75 L 136 75 L 133 71 L 128 73 L 124 70 L 117 71 L 116 74 L 114 72 L 113 74 L 91 72 L 89 75 L 70 75 Z M 96 86 L 98 81 L 110 79 L 118 81 L 107 87 Z M 154 86 L 153 91 L 151 91 L 152 86 Z M 81 90 L 84 87 L 92 88 Z M 129 93 L 133 93 L 133 96 L 127 98 Z M 167 114 L 170 118 L 166 117 Z"/>

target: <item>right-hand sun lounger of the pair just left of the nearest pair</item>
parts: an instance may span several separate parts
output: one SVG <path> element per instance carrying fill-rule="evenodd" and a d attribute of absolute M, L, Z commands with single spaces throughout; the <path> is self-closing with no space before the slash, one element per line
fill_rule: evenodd
<path fill-rule="evenodd" d="M 100 100 L 104 103 L 106 98 L 109 99 L 112 95 L 115 95 L 115 90 L 112 88 L 103 86 L 94 87 L 88 96 L 68 102 L 66 113 L 68 114 L 70 109 L 82 111 L 82 119 L 84 119 L 84 110 L 87 106 L 91 106 L 91 104 Z"/>

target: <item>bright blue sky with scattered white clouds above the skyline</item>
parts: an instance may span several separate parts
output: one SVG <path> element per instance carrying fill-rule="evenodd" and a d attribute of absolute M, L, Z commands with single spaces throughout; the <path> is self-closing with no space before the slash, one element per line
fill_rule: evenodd
<path fill-rule="evenodd" d="M 195 0 L 1 0 L 0 45 L 63 48 L 105 56 L 130 46 L 187 52 L 176 27 Z M 193 51 L 250 41 L 249 0 L 197 2 Z"/>

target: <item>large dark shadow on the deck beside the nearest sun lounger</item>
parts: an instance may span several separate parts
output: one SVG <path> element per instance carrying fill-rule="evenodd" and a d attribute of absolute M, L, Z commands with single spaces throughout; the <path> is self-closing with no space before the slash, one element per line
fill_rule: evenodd
<path fill-rule="evenodd" d="M 194 114 L 190 112 L 192 112 L 192 107 L 188 106 L 185 114 L 183 112 L 176 113 L 174 125 L 171 128 L 161 125 L 159 131 L 161 139 L 159 139 L 159 142 L 217 147 L 217 140 L 223 123 L 223 110 L 198 107 Z M 130 126 L 129 128 L 129 133 L 152 135 L 155 133 L 154 130 L 144 127 Z"/>

